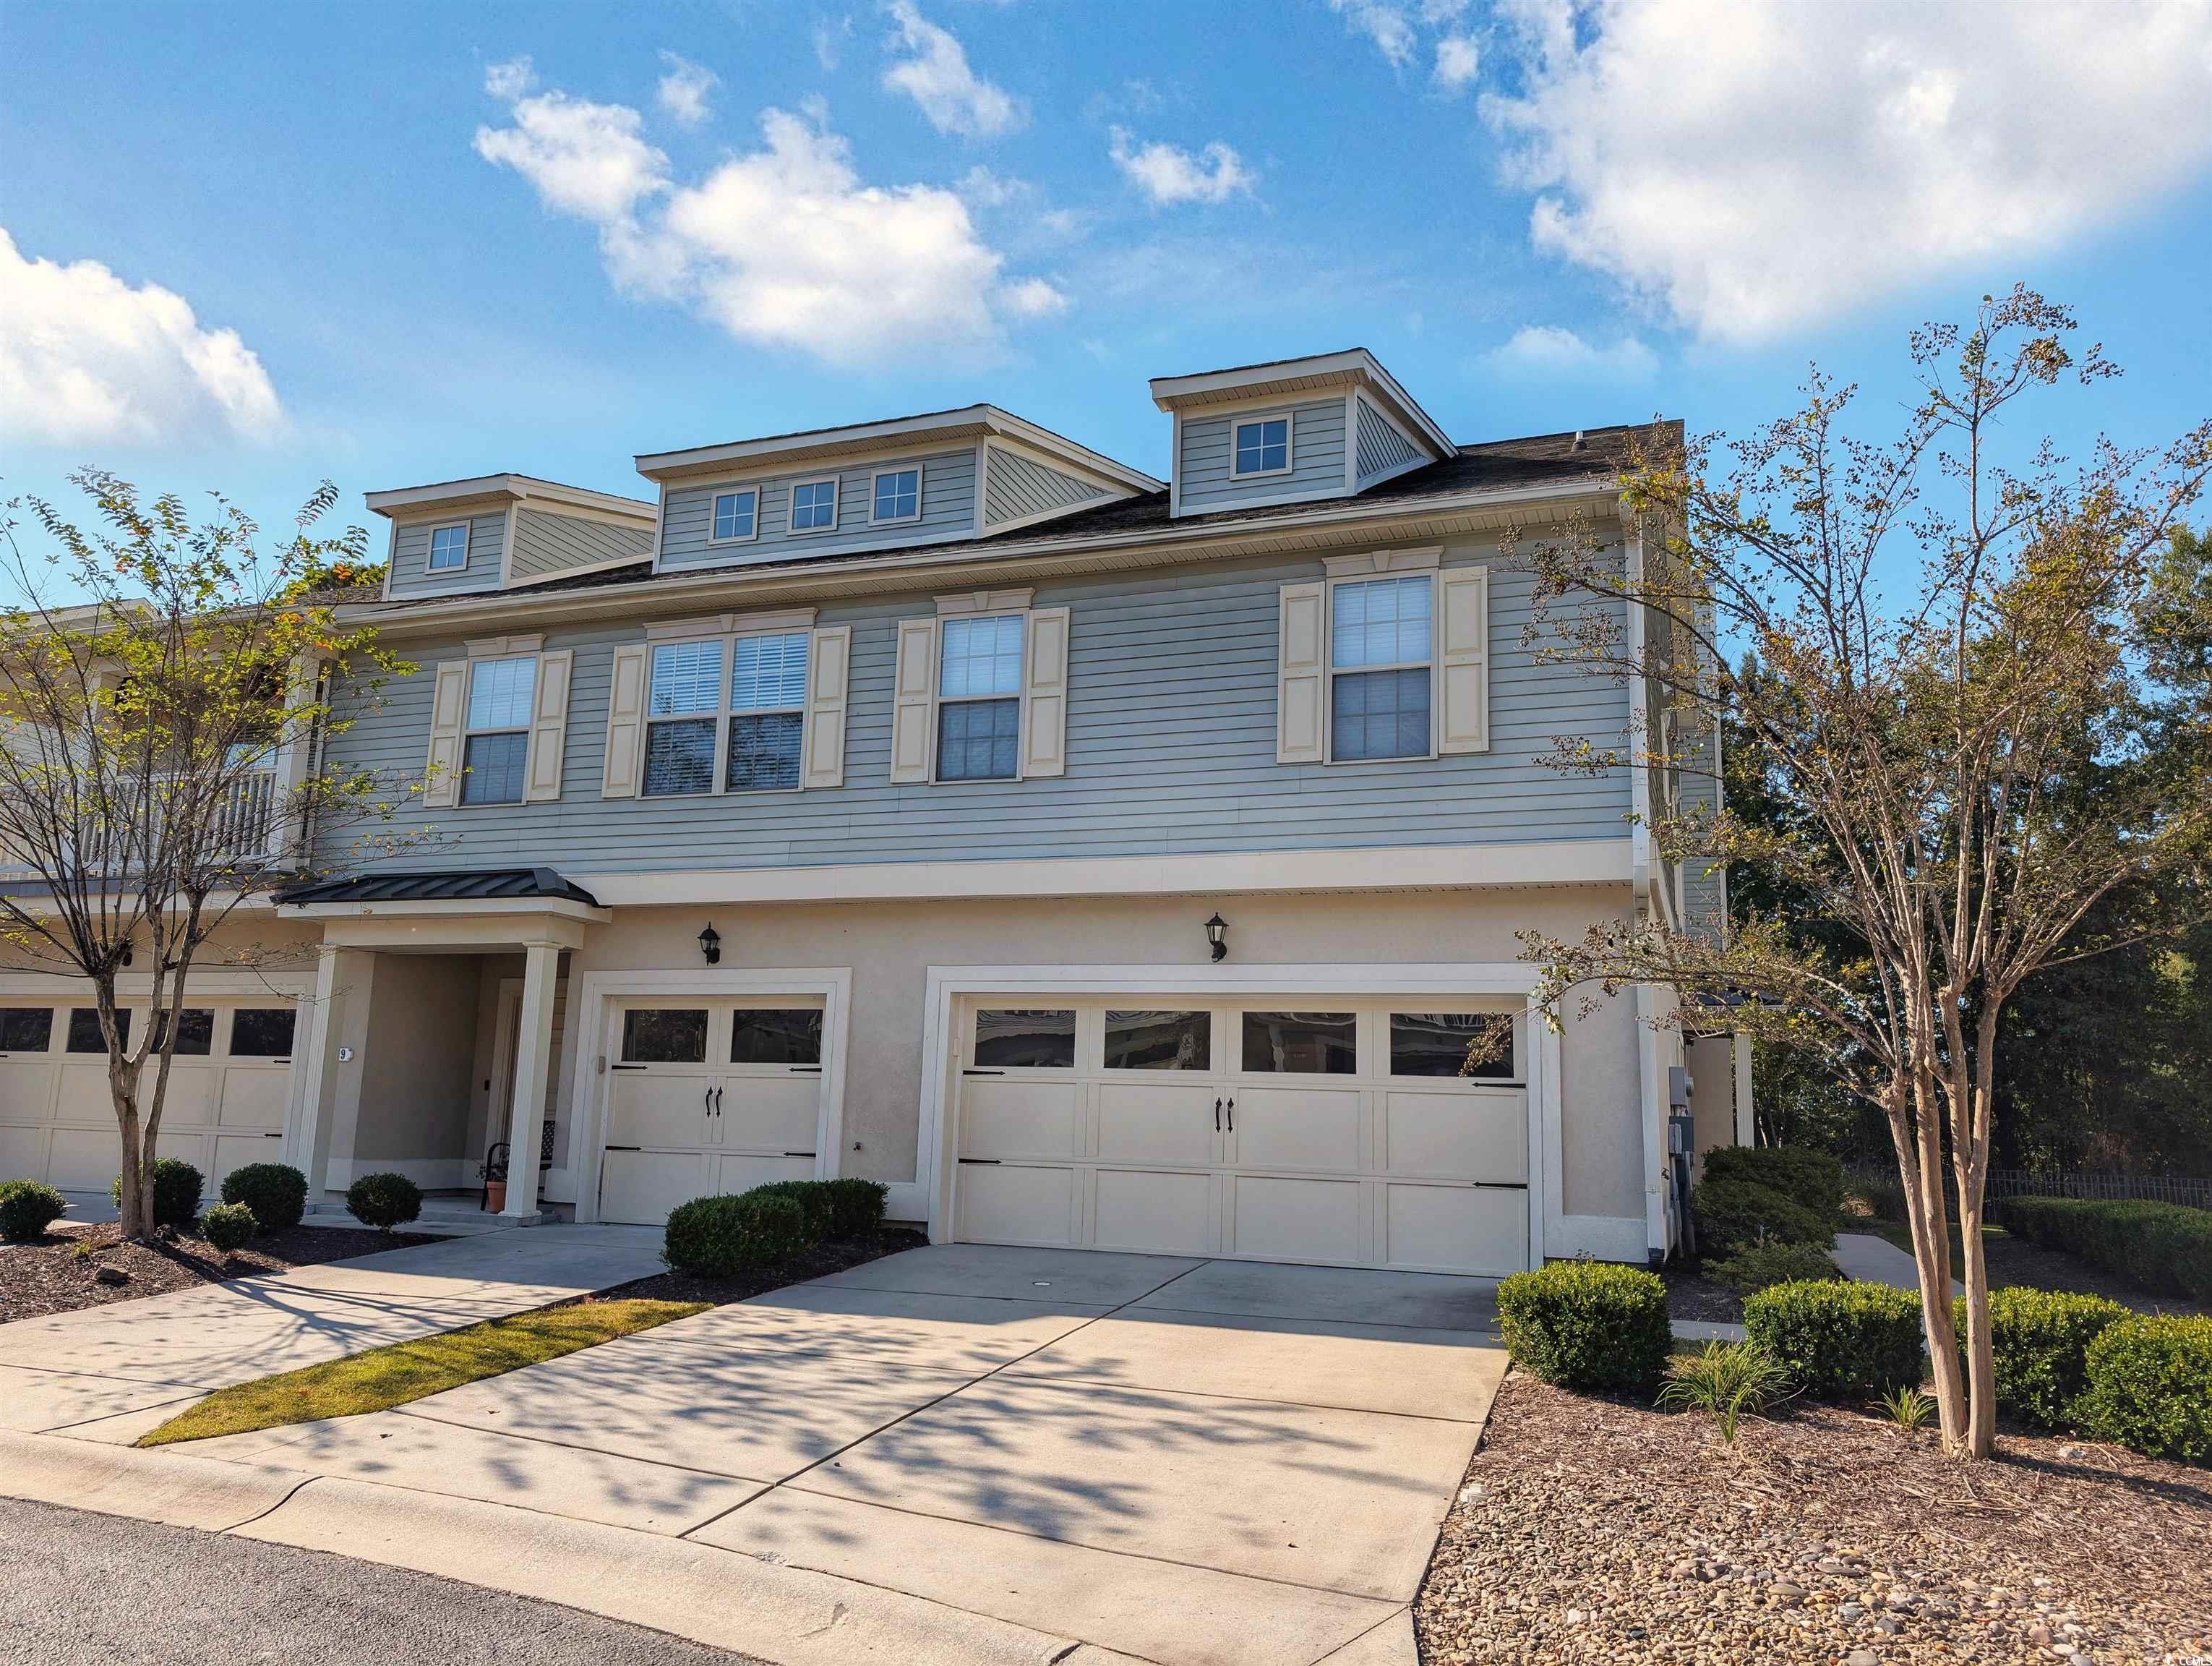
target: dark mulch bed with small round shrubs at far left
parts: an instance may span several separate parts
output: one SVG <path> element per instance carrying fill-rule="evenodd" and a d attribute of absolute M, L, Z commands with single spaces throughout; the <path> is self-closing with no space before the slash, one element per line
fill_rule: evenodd
<path fill-rule="evenodd" d="M 177 1232 L 159 1243 L 128 1243 L 113 1221 L 62 1226 L 35 1243 L 0 1248 L 0 1323 L 434 1241 L 420 1232 L 383 1237 L 343 1226 L 290 1226 L 283 1232 L 257 1237 L 243 1250 L 226 1257 L 190 1232 Z M 84 1246 L 91 1246 L 88 1252 Z M 119 1268 L 131 1279 L 128 1283 L 100 1283 L 95 1277 L 100 1268 Z"/>

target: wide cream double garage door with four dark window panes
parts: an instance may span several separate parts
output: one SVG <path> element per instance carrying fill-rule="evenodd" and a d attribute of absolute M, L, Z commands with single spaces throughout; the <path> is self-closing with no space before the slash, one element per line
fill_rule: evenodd
<path fill-rule="evenodd" d="M 1442 1004 L 1469 1011 L 1427 1011 Z M 1526 1268 L 1524 1020 L 1480 1007 L 964 1002 L 956 1235 Z M 1491 1033 L 1480 1073 L 1462 1075 L 1471 1044 Z"/>

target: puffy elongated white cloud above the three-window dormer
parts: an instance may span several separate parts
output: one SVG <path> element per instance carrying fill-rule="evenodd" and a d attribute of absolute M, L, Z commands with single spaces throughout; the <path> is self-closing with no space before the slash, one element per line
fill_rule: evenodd
<path fill-rule="evenodd" d="M 478 133 L 484 159 L 595 226 L 617 290 L 686 305 L 739 341 L 872 365 L 995 350 L 1006 323 L 1066 305 L 1053 283 L 1004 272 L 958 192 L 865 184 L 818 108 L 763 111 L 763 148 L 697 184 L 670 175 L 628 106 L 549 91 L 511 115 Z"/>

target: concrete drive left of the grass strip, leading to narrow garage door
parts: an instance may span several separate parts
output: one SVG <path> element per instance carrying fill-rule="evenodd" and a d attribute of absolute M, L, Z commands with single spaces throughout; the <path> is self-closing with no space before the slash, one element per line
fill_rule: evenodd
<path fill-rule="evenodd" d="M 137 1440 L 210 1389 L 661 1270 L 661 1235 L 546 1226 L 0 1325 L 0 1429 Z"/>

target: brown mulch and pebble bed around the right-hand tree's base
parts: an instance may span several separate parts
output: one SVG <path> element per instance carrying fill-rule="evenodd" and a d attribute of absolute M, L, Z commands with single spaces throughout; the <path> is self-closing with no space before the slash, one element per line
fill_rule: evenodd
<path fill-rule="evenodd" d="M 2086 1440 L 1840 1407 L 1712 1420 L 1515 1370 L 1413 1604 L 1460 1662 L 2188 1662 L 2212 1657 L 2212 1471 Z"/>

